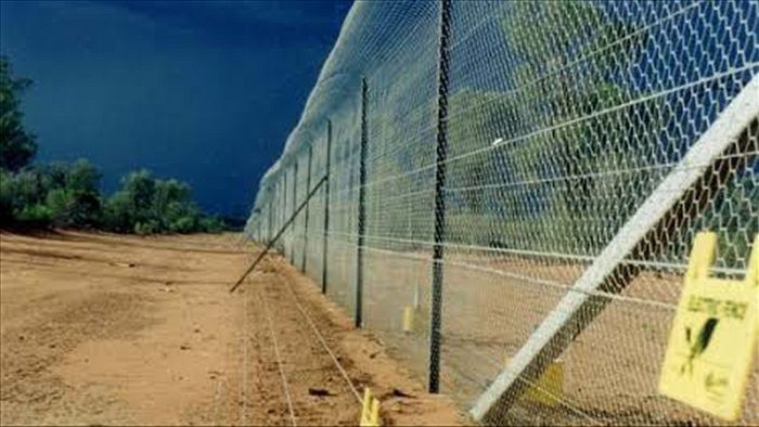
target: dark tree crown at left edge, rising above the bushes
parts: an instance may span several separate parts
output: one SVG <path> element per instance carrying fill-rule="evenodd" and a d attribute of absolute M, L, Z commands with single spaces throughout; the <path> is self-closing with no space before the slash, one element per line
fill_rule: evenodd
<path fill-rule="evenodd" d="M 35 137 L 24 129 L 20 95 L 31 81 L 13 75 L 8 57 L 0 56 L 0 168 L 17 171 L 37 154 Z"/>

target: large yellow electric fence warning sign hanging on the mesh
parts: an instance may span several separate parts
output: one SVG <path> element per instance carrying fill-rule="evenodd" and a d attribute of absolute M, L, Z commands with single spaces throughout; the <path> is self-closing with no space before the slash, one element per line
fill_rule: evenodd
<path fill-rule="evenodd" d="M 759 235 L 743 281 L 709 276 L 717 235 L 698 233 L 661 366 L 659 392 L 736 420 L 759 335 Z"/>

